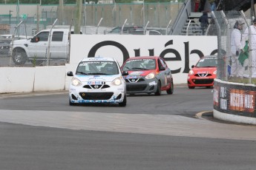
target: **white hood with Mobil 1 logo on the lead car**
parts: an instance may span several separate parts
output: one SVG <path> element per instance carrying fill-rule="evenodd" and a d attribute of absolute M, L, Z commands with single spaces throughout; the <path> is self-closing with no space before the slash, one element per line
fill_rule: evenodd
<path fill-rule="evenodd" d="M 74 75 L 79 81 L 114 81 L 115 78 L 122 77 L 121 75 Z"/>

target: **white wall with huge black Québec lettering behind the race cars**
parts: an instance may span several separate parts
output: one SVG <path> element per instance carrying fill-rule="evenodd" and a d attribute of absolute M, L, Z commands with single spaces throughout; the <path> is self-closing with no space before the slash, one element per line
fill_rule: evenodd
<path fill-rule="evenodd" d="M 191 54 L 193 50 L 210 55 L 217 50 L 217 36 L 183 36 L 183 35 L 71 35 L 70 64 L 77 64 L 82 58 L 87 58 L 89 52 L 99 44 L 105 44 L 96 50 L 95 56 L 112 57 L 123 63 L 122 51 L 110 44 L 119 44 L 128 51 L 129 57 L 134 57 L 134 50 L 140 50 L 140 55 L 149 55 L 149 50 L 154 50 L 154 55 L 160 55 L 165 50 L 175 50 L 180 55 L 179 61 L 166 61 L 177 58 L 174 53 L 165 55 L 165 61 L 171 70 L 180 69 L 173 74 L 174 84 L 186 84 L 188 72 L 184 72 L 186 55 L 189 58 L 189 68 L 196 64 L 200 56 Z M 172 41 L 172 44 L 171 44 Z M 167 44 L 169 42 L 169 44 Z"/>

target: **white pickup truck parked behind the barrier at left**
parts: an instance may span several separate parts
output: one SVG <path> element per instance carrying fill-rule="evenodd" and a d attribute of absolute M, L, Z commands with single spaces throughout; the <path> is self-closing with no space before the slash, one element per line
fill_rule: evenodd
<path fill-rule="evenodd" d="M 42 64 L 43 61 L 69 59 L 69 29 L 42 30 L 33 38 L 13 41 L 11 57 L 17 65 L 30 61 L 33 64 Z M 72 32 L 71 32 L 72 33 Z M 50 41 L 49 41 L 50 39 Z M 48 44 L 50 43 L 50 46 Z M 10 44 L 10 47 L 12 43 Z M 50 55 L 47 50 L 50 49 Z"/>

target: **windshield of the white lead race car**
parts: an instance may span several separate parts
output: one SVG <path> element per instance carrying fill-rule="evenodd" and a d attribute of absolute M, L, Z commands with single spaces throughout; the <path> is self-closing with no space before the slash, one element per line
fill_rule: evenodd
<path fill-rule="evenodd" d="M 76 75 L 117 75 L 119 69 L 114 61 L 82 61 Z"/>

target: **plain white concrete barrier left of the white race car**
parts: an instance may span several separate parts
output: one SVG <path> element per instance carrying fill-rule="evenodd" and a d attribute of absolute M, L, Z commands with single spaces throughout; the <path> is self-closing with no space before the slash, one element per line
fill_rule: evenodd
<path fill-rule="evenodd" d="M 65 89 L 66 67 L 0 67 L 0 93 Z"/>

